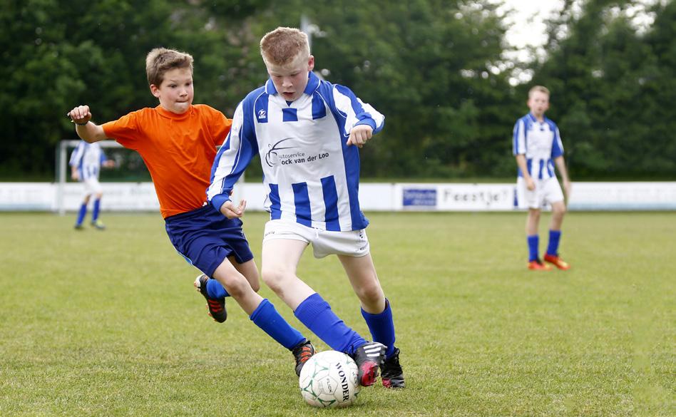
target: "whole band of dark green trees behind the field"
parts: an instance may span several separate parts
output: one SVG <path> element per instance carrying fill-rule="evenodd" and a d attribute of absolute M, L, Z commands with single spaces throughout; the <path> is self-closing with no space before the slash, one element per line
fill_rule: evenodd
<path fill-rule="evenodd" d="M 514 121 L 526 91 L 553 91 L 575 180 L 676 177 L 676 2 L 659 1 L 641 31 L 638 0 L 566 0 L 548 22 L 543 61 L 513 63 L 493 0 L 5 1 L 0 9 L 0 177 L 51 178 L 64 117 L 91 105 L 98 123 L 155 106 L 145 55 L 166 46 L 195 57 L 195 102 L 232 116 L 267 78 L 260 37 L 316 25 L 316 69 L 386 115 L 362 149 L 364 177 L 511 177 Z M 374 19 L 378 16 L 378 19 Z M 532 68 L 513 87 L 513 69 Z M 17 174 L 19 173 L 19 174 Z M 260 167 L 252 164 L 252 177 Z"/>

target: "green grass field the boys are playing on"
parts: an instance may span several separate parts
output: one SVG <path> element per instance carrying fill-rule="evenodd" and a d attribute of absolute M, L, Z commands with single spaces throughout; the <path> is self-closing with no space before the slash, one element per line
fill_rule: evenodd
<path fill-rule="evenodd" d="M 676 213 L 570 213 L 568 272 L 526 270 L 523 213 L 367 215 L 407 388 L 317 410 L 234 302 L 207 316 L 158 214 L 0 214 L 0 416 L 676 415 Z M 368 334 L 337 259 L 299 275 Z"/>

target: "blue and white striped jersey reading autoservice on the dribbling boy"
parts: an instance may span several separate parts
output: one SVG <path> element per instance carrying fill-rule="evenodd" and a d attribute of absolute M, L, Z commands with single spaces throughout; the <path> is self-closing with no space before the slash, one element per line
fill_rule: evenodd
<path fill-rule="evenodd" d="M 216 207 L 258 153 L 270 218 L 321 230 L 361 230 L 369 224 L 359 208 L 359 148 L 347 146 L 355 125 L 378 133 L 381 115 L 349 88 L 309 73 L 300 98 L 291 103 L 271 80 L 237 105 L 220 148 L 207 197 Z"/>

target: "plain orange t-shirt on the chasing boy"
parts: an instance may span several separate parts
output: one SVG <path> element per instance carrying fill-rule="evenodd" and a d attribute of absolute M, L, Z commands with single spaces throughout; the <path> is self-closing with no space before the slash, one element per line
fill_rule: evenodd
<path fill-rule="evenodd" d="M 108 138 L 141 155 L 166 218 L 203 206 L 216 146 L 225 141 L 230 125 L 220 111 L 196 104 L 183 114 L 160 105 L 143 108 L 102 127 Z"/>

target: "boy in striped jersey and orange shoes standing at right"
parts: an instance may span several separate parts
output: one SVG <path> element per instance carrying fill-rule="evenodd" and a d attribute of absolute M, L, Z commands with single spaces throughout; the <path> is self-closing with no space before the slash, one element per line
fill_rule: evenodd
<path fill-rule="evenodd" d="M 554 165 L 563 180 L 565 195 L 570 197 L 570 180 L 563 160 L 563 143 L 556 124 L 545 117 L 549 108 L 549 90 L 535 86 L 528 92 L 530 113 L 516 121 L 513 133 L 513 154 L 518 165 L 516 183 L 519 207 L 528 207 L 526 236 L 528 242 L 528 269 L 549 270 L 539 256 L 538 225 L 540 212 L 546 203 L 551 205 L 549 243 L 544 260 L 558 269 L 570 269 L 558 254 L 561 223 L 565 215 L 565 200 Z"/>

